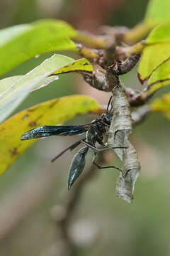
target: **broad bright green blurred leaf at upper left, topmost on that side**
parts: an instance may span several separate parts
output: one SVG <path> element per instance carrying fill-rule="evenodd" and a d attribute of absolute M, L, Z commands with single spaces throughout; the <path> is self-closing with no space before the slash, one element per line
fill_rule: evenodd
<path fill-rule="evenodd" d="M 36 21 L 0 31 L 0 75 L 35 55 L 55 50 L 75 50 L 69 39 L 77 32 L 64 21 Z"/>

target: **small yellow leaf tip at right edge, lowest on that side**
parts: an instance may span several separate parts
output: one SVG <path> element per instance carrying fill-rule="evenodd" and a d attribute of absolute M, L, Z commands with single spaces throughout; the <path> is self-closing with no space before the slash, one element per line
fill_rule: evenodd
<path fill-rule="evenodd" d="M 162 112 L 170 119 L 170 93 L 154 100 L 150 107 L 152 112 Z"/>

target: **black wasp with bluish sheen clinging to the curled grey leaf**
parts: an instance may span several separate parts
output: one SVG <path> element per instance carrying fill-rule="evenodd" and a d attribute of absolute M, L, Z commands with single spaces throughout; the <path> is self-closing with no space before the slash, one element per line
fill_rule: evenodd
<path fill-rule="evenodd" d="M 108 107 L 111 103 L 111 98 L 108 102 Z M 75 154 L 74 158 L 72 159 L 72 163 L 69 167 L 69 178 L 68 178 L 68 188 L 71 188 L 71 186 L 74 184 L 74 182 L 77 180 L 79 175 L 84 169 L 84 166 L 86 164 L 86 154 L 90 149 L 94 151 L 94 158 L 93 158 L 93 164 L 95 164 L 98 169 L 106 169 L 106 168 L 114 168 L 119 171 L 120 170 L 116 166 L 100 166 L 96 163 L 95 159 L 97 156 L 98 151 L 103 151 L 108 149 L 106 147 L 106 144 L 103 142 L 103 136 L 108 132 L 108 128 L 111 125 L 111 110 L 108 112 L 108 107 L 106 113 L 101 114 L 97 119 L 93 120 L 90 124 L 85 125 L 74 125 L 74 126 L 57 126 L 57 125 L 45 125 L 42 127 L 37 127 L 35 129 L 31 129 L 28 132 L 25 132 L 21 139 L 36 139 L 36 138 L 42 138 L 42 137 L 49 137 L 52 135 L 59 135 L 59 136 L 72 136 L 72 135 L 81 135 L 86 133 L 86 137 L 83 139 L 80 139 L 78 142 L 75 142 L 71 146 L 67 147 L 67 149 L 64 149 L 60 154 L 58 154 L 52 161 L 55 161 L 58 159 L 64 152 L 68 150 L 75 149 L 79 144 L 85 144 L 86 146 L 79 149 L 77 154 Z M 96 143 L 98 142 L 99 145 L 103 146 L 102 148 L 98 149 L 96 147 Z M 118 148 L 118 147 L 113 147 Z M 120 148 L 120 147 L 119 147 Z M 122 147 L 124 148 L 124 147 Z"/>

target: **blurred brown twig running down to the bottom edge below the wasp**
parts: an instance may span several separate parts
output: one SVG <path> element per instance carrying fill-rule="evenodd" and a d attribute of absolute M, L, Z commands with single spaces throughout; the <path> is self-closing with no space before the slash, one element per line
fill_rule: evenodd
<path fill-rule="evenodd" d="M 82 191 L 86 183 L 97 174 L 96 166 L 91 165 L 89 169 L 79 178 L 79 181 L 75 183 L 71 190 L 67 193 L 61 206 L 56 206 L 52 213 L 53 220 L 57 228 L 57 243 L 62 242 L 62 247 L 60 246 L 60 254 L 58 254 L 58 247 L 51 247 L 47 250 L 47 256 L 50 255 L 60 255 L 60 256 L 75 256 L 77 255 L 77 247 L 74 245 L 72 238 L 70 237 L 69 224 L 72 220 L 74 210 L 77 208 Z M 61 250 L 62 248 L 62 250 Z M 55 252 L 54 252 L 55 250 Z M 44 255 L 44 254 L 43 254 Z"/>

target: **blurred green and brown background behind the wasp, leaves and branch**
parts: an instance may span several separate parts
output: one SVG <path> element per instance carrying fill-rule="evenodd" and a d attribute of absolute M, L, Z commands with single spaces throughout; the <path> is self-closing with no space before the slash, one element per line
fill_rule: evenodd
<path fill-rule="evenodd" d="M 147 0 L 1 0 L 0 28 L 40 18 L 60 18 L 75 28 L 93 32 L 103 24 L 132 27 L 142 20 L 146 6 Z M 77 58 L 73 53 L 63 54 Z M 50 55 L 34 58 L 6 76 L 25 74 Z M 135 70 L 124 75 L 123 81 L 126 86 L 141 90 Z M 109 98 L 107 93 L 84 84 L 80 75 L 65 74 L 31 93 L 16 112 L 72 94 L 94 95 L 102 104 Z M 94 117 L 77 117 L 67 124 L 85 124 L 91 118 Z M 169 129 L 170 122 L 162 114 L 152 114 L 134 129 L 131 140 L 138 151 L 142 173 L 132 204 L 115 197 L 117 171 L 98 171 L 86 184 L 69 225 L 77 245 L 75 255 L 170 254 Z M 54 164 L 50 159 L 74 140 L 72 137 L 40 140 L 1 176 L 1 256 L 50 255 L 49 248 L 57 242 L 52 213 L 69 193 L 67 171 L 74 153 L 65 154 Z M 115 156 L 112 161 L 120 165 Z M 87 168 L 90 164 L 89 154 Z"/>

